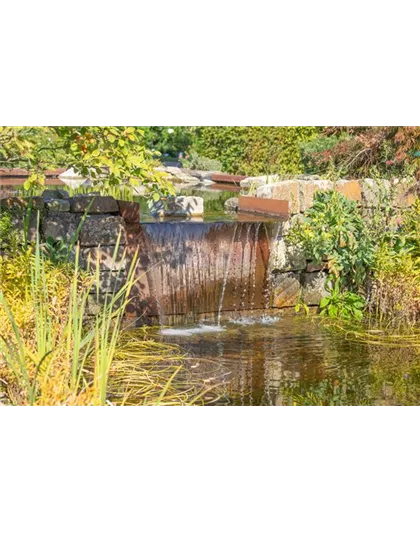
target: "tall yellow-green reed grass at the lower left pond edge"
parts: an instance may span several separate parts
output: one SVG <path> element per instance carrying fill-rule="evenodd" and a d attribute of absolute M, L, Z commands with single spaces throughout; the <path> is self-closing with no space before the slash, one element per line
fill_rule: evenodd
<path fill-rule="evenodd" d="M 178 406 L 217 401 L 217 365 L 206 379 L 177 347 L 151 338 L 148 330 L 126 330 L 124 313 L 138 281 L 137 256 L 122 288 L 114 287 L 100 301 L 99 259 L 93 272 L 86 273 L 79 255 L 76 246 L 74 265 L 57 267 L 37 241 L 27 254 L 29 272 L 20 292 L 10 287 L 10 277 L 0 276 L 0 377 L 12 404 Z M 117 278 L 119 274 L 121 270 Z M 54 290 L 57 280 L 62 293 Z M 100 311 L 90 316 L 95 295 Z"/>

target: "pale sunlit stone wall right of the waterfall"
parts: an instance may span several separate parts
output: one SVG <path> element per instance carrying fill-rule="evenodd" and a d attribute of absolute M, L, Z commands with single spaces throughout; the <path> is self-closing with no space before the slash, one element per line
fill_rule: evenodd
<path fill-rule="evenodd" d="M 277 240 L 270 253 L 269 272 L 272 283 L 271 306 L 273 308 L 293 307 L 299 302 L 308 306 L 319 305 L 326 296 L 328 264 L 314 265 L 306 261 L 302 250 L 288 246 L 287 233 L 291 225 L 312 207 L 317 191 L 336 189 L 350 200 L 357 201 L 363 212 L 380 206 L 385 198 L 391 205 L 404 209 L 413 204 L 415 196 L 409 193 L 409 180 L 338 180 L 332 182 L 314 176 L 296 176 L 296 179 L 273 181 L 276 177 L 260 176 L 241 182 L 242 194 L 257 198 L 286 200 L 289 202 L 290 220 L 281 223 Z M 267 183 L 272 181 L 272 183 Z"/>

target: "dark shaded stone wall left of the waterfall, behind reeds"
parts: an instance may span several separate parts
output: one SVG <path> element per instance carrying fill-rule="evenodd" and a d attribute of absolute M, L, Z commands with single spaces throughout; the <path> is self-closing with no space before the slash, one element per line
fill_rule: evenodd
<path fill-rule="evenodd" d="M 79 242 L 82 268 L 94 270 L 99 260 L 99 298 L 95 287 L 88 302 L 88 310 L 95 314 L 105 294 L 119 290 L 127 278 L 127 269 L 137 248 L 130 243 L 135 242 L 134 235 L 139 228 L 139 205 L 117 201 L 111 196 L 76 195 L 70 198 L 65 191 L 46 190 L 42 197 L 0 200 L 0 206 L 12 212 L 13 226 L 22 236 L 24 227 L 27 227 L 28 241 L 35 242 L 38 233 L 41 243 L 48 237 L 70 243 L 92 199 L 89 214 L 81 226 Z M 28 207 L 31 207 L 29 211 Z M 26 213 L 30 213 L 29 217 Z"/>

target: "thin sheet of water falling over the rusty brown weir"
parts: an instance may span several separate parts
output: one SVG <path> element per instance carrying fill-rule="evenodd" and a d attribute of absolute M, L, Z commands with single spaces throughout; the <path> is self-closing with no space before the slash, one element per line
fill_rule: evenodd
<path fill-rule="evenodd" d="M 195 323 L 225 311 L 264 309 L 266 222 L 140 224 L 137 298 L 144 322 Z M 276 223 L 274 223 L 276 224 Z"/>

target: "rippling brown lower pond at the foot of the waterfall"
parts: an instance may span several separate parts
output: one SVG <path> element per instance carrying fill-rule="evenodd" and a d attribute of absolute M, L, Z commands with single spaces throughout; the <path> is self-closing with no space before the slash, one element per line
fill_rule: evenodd
<path fill-rule="evenodd" d="M 226 368 L 220 405 L 415 406 L 418 349 L 356 344 L 318 317 L 242 316 L 162 328 L 161 339 Z M 204 364 L 203 364 L 204 366 Z"/>

